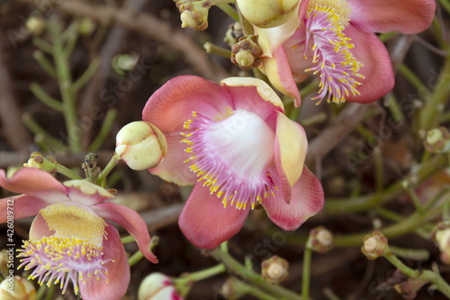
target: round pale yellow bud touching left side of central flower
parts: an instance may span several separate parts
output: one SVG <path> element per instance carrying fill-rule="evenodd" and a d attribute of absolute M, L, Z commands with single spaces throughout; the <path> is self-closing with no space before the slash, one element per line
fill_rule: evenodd
<path fill-rule="evenodd" d="M 166 151 L 166 137 L 151 123 L 132 122 L 117 133 L 115 153 L 134 170 L 157 167 Z"/>

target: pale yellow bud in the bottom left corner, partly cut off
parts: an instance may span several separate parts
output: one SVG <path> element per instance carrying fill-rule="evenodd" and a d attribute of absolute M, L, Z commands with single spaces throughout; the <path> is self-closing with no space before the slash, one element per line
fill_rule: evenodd
<path fill-rule="evenodd" d="M 0 284 L 0 300 L 35 300 L 36 290 L 23 277 L 6 277 Z"/>

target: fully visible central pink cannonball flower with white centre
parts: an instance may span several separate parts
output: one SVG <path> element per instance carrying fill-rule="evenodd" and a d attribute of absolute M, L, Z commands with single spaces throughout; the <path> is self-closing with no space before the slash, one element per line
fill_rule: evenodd
<path fill-rule="evenodd" d="M 289 231 L 323 206 L 322 186 L 304 166 L 306 134 L 262 80 L 175 77 L 151 95 L 142 119 L 167 141 L 166 158 L 149 171 L 194 185 L 179 225 L 197 247 L 229 240 L 258 204 Z"/>

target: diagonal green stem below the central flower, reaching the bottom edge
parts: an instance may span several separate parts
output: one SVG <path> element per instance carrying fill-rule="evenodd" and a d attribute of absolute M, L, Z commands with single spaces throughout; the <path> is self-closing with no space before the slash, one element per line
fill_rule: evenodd
<path fill-rule="evenodd" d="M 217 259 L 218 261 L 223 263 L 223 265 L 225 265 L 229 272 L 242 278 L 243 280 L 246 280 L 252 285 L 259 286 L 267 293 L 276 295 L 279 299 L 285 298 L 289 300 L 304 300 L 301 295 L 297 295 L 293 293 L 293 291 L 290 291 L 283 286 L 269 285 L 266 279 L 255 273 L 253 270 L 245 268 L 245 266 L 240 264 L 236 259 L 233 259 L 231 256 L 229 256 L 228 253 L 224 253 L 218 248 L 211 250 L 210 253 L 214 259 Z"/>

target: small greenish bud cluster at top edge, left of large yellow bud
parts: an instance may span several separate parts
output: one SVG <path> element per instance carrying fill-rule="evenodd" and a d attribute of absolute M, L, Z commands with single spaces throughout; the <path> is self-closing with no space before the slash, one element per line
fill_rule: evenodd
<path fill-rule="evenodd" d="M 204 31 L 208 28 L 208 13 L 211 8 L 210 1 L 175 1 L 181 15 L 181 27 Z"/>

